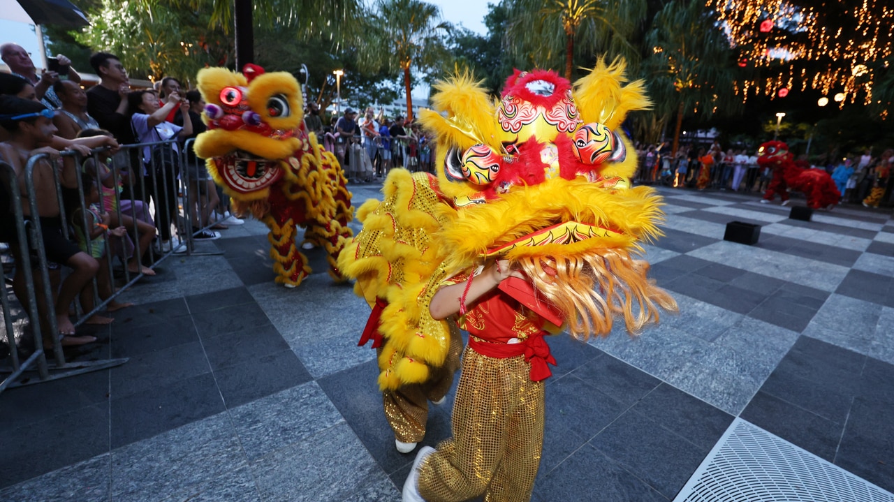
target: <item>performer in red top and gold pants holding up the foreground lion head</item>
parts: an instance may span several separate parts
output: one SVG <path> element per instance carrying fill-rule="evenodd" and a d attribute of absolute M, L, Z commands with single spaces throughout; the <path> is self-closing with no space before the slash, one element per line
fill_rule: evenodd
<path fill-rule="evenodd" d="M 555 360 L 544 318 L 497 288 L 510 277 L 527 280 L 497 260 L 445 281 L 432 298 L 434 319 L 460 314 L 468 347 L 453 437 L 420 449 L 404 500 L 465 500 L 485 489 L 488 500 L 531 497 L 544 442 L 544 380 Z"/>

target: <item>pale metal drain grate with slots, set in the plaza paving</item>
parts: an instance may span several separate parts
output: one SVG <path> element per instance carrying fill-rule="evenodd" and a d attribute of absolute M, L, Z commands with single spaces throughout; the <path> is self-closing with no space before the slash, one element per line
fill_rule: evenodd
<path fill-rule="evenodd" d="M 894 502 L 894 495 L 737 418 L 674 502 Z"/>

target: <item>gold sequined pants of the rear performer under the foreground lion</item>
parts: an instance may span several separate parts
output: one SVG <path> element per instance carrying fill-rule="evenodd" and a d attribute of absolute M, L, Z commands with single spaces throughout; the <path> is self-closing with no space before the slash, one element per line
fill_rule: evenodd
<path fill-rule="evenodd" d="M 444 364 L 432 370 L 425 383 L 405 385 L 382 393 L 385 419 L 394 430 L 394 439 L 403 443 L 417 443 L 426 437 L 428 401 L 447 395 L 453 385 L 453 373 L 460 368 L 462 338 L 456 324 L 450 322 L 450 348 Z M 382 348 L 378 349 L 381 353 Z"/>

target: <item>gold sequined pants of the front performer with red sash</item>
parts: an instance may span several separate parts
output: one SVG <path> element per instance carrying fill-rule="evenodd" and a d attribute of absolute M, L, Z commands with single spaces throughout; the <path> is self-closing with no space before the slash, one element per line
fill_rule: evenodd
<path fill-rule="evenodd" d="M 453 438 L 426 458 L 419 493 L 429 502 L 530 500 L 544 443 L 544 382 L 525 356 L 466 348 L 453 405 Z"/>

